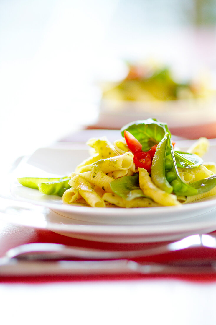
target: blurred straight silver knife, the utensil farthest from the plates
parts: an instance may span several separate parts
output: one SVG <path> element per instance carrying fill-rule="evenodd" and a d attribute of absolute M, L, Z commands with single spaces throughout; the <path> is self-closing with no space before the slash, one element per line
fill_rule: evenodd
<path fill-rule="evenodd" d="M 160 274 L 160 275 L 204 275 L 216 274 L 216 263 L 161 264 L 138 263 L 131 260 L 103 261 L 22 261 L 16 258 L 0 258 L 0 276 L 44 276 L 44 275 L 114 275 L 114 274 Z"/>

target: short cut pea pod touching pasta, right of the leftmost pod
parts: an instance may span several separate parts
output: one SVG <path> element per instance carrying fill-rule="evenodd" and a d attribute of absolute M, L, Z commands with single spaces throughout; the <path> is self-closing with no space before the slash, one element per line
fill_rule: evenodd
<path fill-rule="evenodd" d="M 48 195 L 57 194 L 59 196 L 62 196 L 66 189 L 70 188 L 70 185 L 68 184 L 69 180 L 70 177 L 67 177 L 65 179 L 57 180 L 54 182 L 45 182 L 38 184 L 39 192 Z"/>

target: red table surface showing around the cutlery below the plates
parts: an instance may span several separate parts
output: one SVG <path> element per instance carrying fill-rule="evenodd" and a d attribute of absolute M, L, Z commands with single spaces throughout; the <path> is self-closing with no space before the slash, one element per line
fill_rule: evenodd
<path fill-rule="evenodd" d="M 216 235 L 216 233 L 213 233 Z M 26 243 L 36 243 L 36 242 L 50 242 L 50 243 L 61 243 L 71 246 L 80 246 L 80 247 L 90 247 L 90 248 L 101 248 L 101 249 L 131 249 L 134 248 L 144 248 L 149 246 L 157 246 L 158 243 L 139 243 L 139 244 L 129 244 L 129 243 L 104 243 L 104 242 L 95 242 L 88 240 L 80 240 L 71 237 L 66 237 L 63 235 L 56 234 L 50 230 L 46 229 L 35 229 L 32 227 L 18 226 L 9 223 L 0 222 L 0 257 L 2 257 L 6 251 L 10 248 L 16 247 L 21 244 Z M 182 258 L 196 259 L 200 257 L 205 258 L 215 258 L 216 250 L 202 248 L 198 251 L 194 248 L 190 248 L 184 251 L 172 252 L 167 254 L 162 254 L 152 257 L 140 257 L 134 259 L 134 261 L 140 262 L 168 262 L 170 260 L 179 260 Z M 0 282 L 53 282 L 53 281 L 78 281 L 78 280 L 119 280 L 119 279 L 149 279 L 149 278 L 181 278 L 188 281 L 215 281 L 216 274 L 209 275 L 100 275 L 100 276 L 34 276 L 34 277 L 1 277 Z"/>

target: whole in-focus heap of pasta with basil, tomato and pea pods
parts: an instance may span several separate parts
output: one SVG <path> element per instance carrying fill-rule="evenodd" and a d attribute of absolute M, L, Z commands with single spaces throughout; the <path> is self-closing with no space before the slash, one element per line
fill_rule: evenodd
<path fill-rule="evenodd" d="M 175 150 L 165 123 L 135 121 L 121 139 L 91 138 L 90 158 L 58 179 L 18 178 L 43 194 L 62 196 L 66 204 L 91 207 L 176 206 L 216 195 L 216 164 L 203 162 L 209 141 L 200 138 L 187 152 Z"/>

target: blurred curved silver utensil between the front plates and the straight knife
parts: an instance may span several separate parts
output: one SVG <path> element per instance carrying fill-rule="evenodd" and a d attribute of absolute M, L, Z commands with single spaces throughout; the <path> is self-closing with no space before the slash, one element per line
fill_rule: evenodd
<path fill-rule="evenodd" d="M 216 249 L 216 238 L 211 235 L 191 235 L 184 239 L 160 246 L 138 249 L 108 251 L 93 248 L 73 247 L 54 243 L 30 243 L 14 247 L 5 254 L 6 258 L 19 260 L 63 260 L 68 258 L 80 259 L 132 259 L 181 251 L 190 247 L 208 247 Z M 216 259 L 216 251 L 215 251 Z"/>

